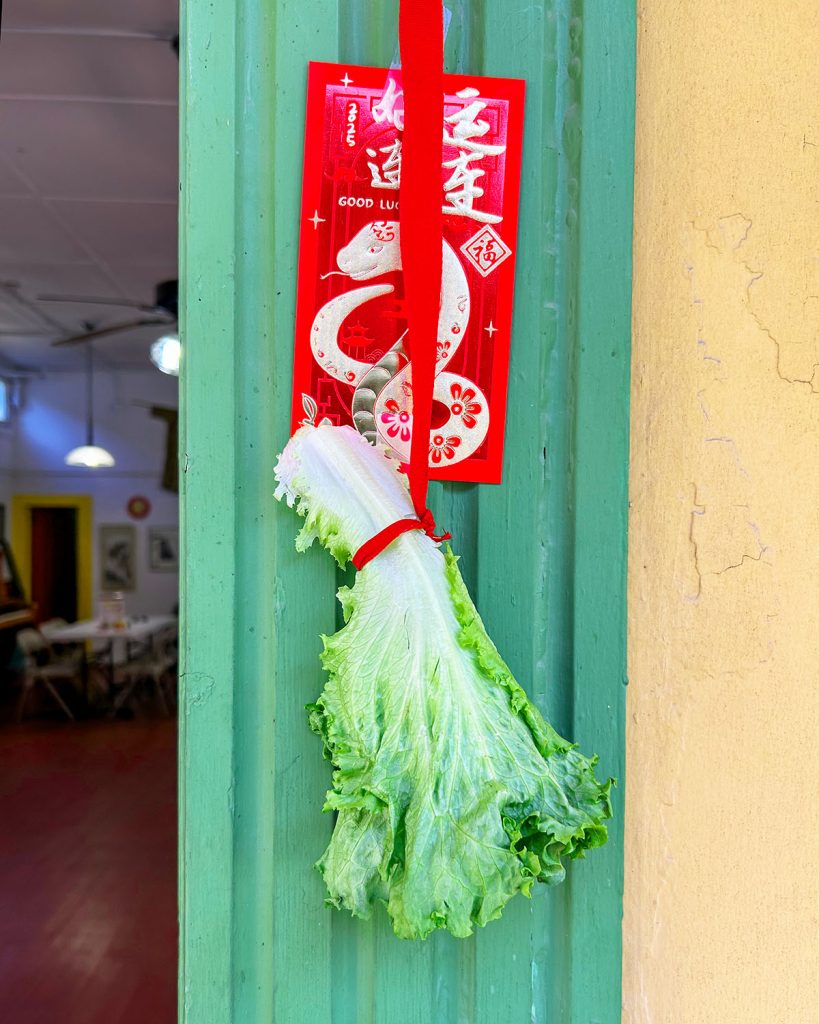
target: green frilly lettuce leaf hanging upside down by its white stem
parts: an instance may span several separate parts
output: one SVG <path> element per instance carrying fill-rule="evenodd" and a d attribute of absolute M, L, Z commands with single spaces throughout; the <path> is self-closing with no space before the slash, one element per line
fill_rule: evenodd
<path fill-rule="evenodd" d="M 352 428 L 303 427 L 276 476 L 306 519 L 298 547 L 317 538 L 340 564 L 413 514 L 404 477 Z M 346 625 L 324 638 L 309 706 L 335 768 L 317 864 L 333 905 L 367 918 L 381 901 L 402 938 L 468 936 L 605 843 L 611 780 L 514 680 L 450 551 L 403 535 L 339 599 Z"/>

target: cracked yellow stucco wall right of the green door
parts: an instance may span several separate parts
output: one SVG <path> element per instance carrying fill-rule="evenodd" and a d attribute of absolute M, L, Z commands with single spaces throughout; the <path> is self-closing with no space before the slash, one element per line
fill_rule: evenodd
<path fill-rule="evenodd" d="M 639 4 L 623 1021 L 819 1021 L 819 3 Z"/>

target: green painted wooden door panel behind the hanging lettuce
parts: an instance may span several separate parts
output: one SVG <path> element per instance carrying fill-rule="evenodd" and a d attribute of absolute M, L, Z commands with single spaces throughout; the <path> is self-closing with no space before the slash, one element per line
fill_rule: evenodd
<path fill-rule="evenodd" d="M 180 1020 L 620 1015 L 634 0 L 446 0 L 447 69 L 527 80 L 504 483 L 435 485 L 489 634 L 620 780 L 606 847 L 468 940 L 322 905 L 303 706 L 336 616 L 272 499 L 288 436 L 308 59 L 387 65 L 394 0 L 183 0 Z"/>

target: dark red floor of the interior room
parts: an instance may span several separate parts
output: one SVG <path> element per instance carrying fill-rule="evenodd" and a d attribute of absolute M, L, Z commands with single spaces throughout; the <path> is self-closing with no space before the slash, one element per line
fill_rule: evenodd
<path fill-rule="evenodd" d="M 0 1022 L 176 1020 L 175 722 L 0 728 Z"/>

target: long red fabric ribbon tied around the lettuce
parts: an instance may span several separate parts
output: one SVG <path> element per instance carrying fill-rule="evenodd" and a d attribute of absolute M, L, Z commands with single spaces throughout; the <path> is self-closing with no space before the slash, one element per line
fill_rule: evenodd
<path fill-rule="evenodd" d="M 401 263 L 410 355 L 413 360 L 413 439 L 410 497 L 417 519 L 399 519 L 371 538 L 353 555 L 361 569 L 396 537 L 423 529 L 434 541 L 435 520 L 427 508 L 432 387 L 441 298 L 443 213 L 443 7 L 441 0 L 400 0 L 404 129 L 401 144 Z"/>

